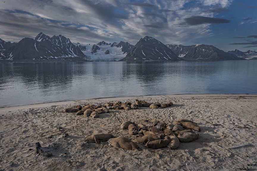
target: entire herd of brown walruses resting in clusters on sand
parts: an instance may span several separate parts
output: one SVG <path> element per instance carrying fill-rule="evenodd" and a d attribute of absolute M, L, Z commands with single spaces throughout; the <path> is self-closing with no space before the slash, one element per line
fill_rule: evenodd
<path fill-rule="evenodd" d="M 109 113 L 109 110 L 131 110 L 139 107 L 158 109 L 172 105 L 172 102 L 160 104 L 159 102 L 148 103 L 136 99 L 134 104 L 131 102 L 122 103 L 118 101 L 115 103 L 107 102 L 97 106 L 93 104 L 87 104 L 83 107 L 77 105 L 75 107 L 61 109 L 60 112 L 76 112 L 76 115 L 98 118 L 99 114 Z M 120 125 L 120 129 L 127 129 L 130 135 L 135 135 L 134 141 L 142 143 L 145 147 L 154 149 L 165 147 L 176 149 L 179 147 L 180 142 L 186 143 L 198 139 L 199 134 L 195 131 L 201 131 L 197 123 L 187 119 L 179 119 L 174 123 L 165 123 L 158 120 L 125 121 Z M 87 143 L 98 144 L 102 141 L 108 141 L 109 145 L 118 149 L 142 150 L 136 142 L 125 137 L 114 137 L 112 134 L 93 134 L 84 140 L 84 142 Z"/>

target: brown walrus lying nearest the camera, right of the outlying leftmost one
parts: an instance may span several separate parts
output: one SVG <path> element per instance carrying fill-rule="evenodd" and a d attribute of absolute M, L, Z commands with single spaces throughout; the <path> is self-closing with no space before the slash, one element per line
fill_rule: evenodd
<path fill-rule="evenodd" d="M 112 145 L 115 148 L 123 148 L 126 150 L 136 150 L 136 151 L 142 150 L 141 148 L 139 148 L 139 146 L 136 143 L 134 143 L 133 141 L 125 137 L 111 138 L 108 140 L 108 143 L 109 145 Z"/>

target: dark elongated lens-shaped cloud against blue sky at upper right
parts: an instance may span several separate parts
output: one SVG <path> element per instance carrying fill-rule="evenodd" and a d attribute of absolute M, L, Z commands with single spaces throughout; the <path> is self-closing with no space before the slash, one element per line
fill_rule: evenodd
<path fill-rule="evenodd" d="M 198 25 L 198 24 L 220 24 L 220 23 L 229 23 L 229 20 L 222 18 L 211 18 L 211 17 L 203 17 L 203 16 L 192 16 L 189 18 L 185 18 L 186 23 L 189 25 Z"/>

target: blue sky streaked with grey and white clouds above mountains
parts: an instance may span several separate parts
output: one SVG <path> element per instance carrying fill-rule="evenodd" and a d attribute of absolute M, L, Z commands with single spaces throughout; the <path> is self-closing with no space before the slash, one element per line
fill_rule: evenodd
<path fill-rule="evenodd" d="M 129 42 L 257 50 L 257 0 L 5 0 L 0 38 L 18 42 L 43 32 L 71 42 Z"/>

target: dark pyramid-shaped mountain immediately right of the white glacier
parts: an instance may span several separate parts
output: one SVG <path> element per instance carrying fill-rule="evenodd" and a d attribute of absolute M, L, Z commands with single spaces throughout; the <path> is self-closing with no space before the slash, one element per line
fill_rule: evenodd
<path fill-rule="evenodd" d="M 181 61 L 167 46 L 153 37 L 145 36 L 128 52 L 121 61 Z"/>

